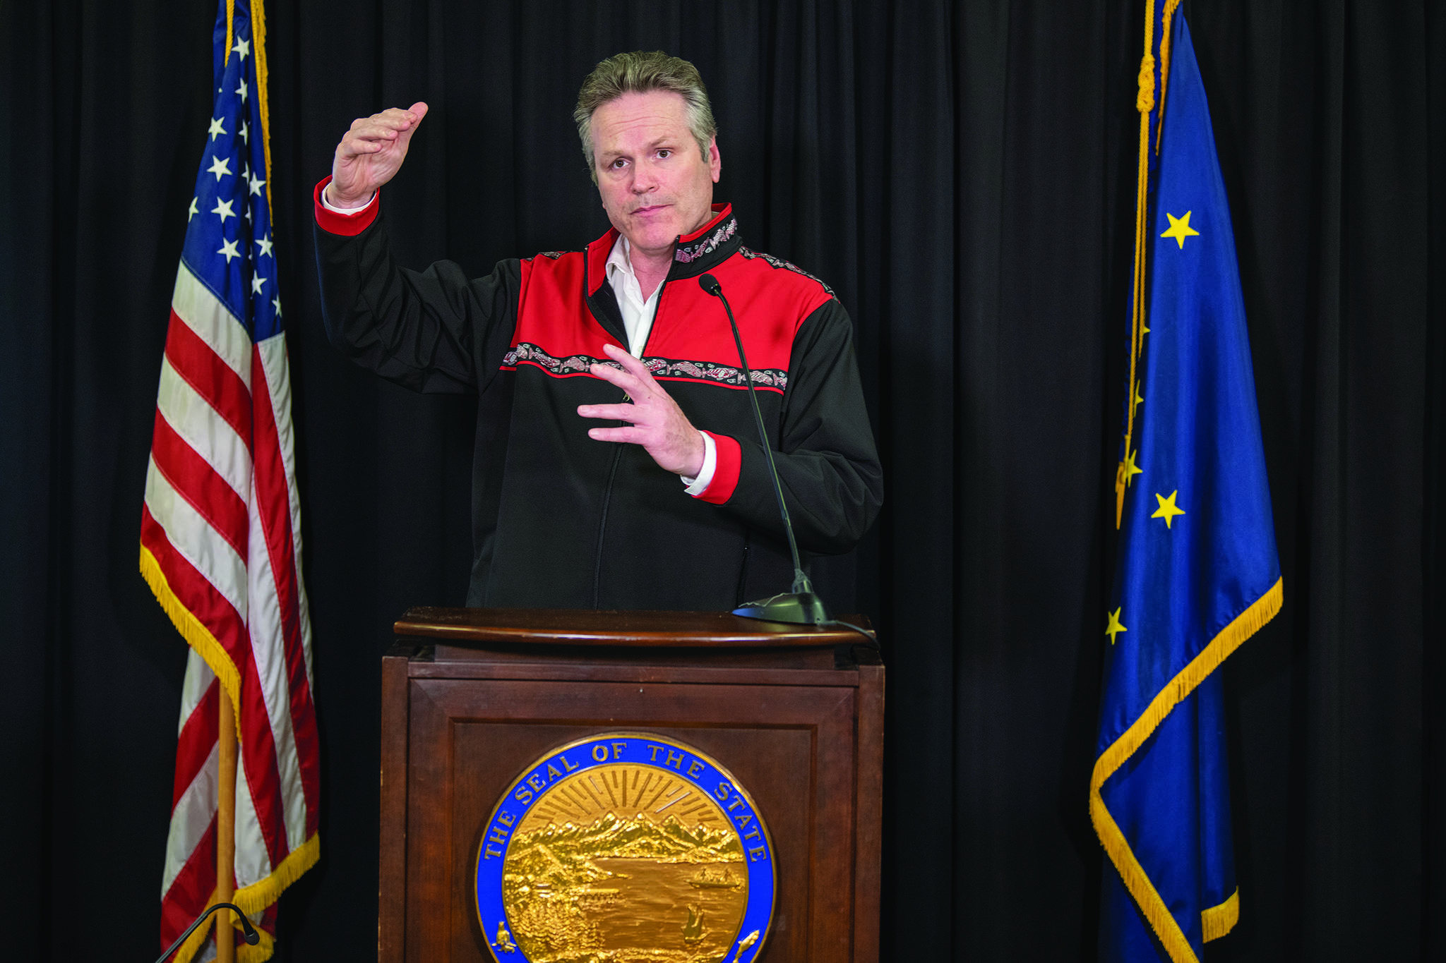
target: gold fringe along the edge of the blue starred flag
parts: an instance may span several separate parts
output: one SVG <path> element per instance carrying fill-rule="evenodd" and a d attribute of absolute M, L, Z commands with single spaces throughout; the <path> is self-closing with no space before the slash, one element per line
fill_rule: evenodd
<path fill-rule="evenodd" d="M 1190 941 L 1180 930 L 1180 925 L 1170 914 L 1170 908 L 1160 898 L 1160 892 L 1155 889 L 1154 882 L 1151 882 L 1150 875 L 1139 865 L 1134 850 L 1129 849 L 1129 842 L 1115 823 L 1115 817 L 1105 807 L 1100 788 L 1145 744 L 1145 739 L 1160 728 L 1160 723 L 1164 722 L 1165 716 L 1180 702 L 1194 692 L 1212 671 L 1219 668 L 1220 663 L 1239 648 L 1241 642 L 1259 631 L 1265 622 L 1271 621 L 1280 612 L 1283 602 L 1284 579 L 1277 579 L 1275 585 L 1235 616 L 1229 625 L 1220 629 L 1210 640 L 1210 644 L 1155 694 L 1144 713 L 1095 761 L 1095 772 L 1089 783 L 1089 816 L 1090 822 L 1095 823 L 1095 835 L 1099 836 L 1099 843 L 1109 855 L 1109 860 L 1115 863 L 1115 869 L 1119 872 L 1125 888 L 1135 898 L 1135 904 L 1150 921 L 1151 928 L 1160 937 L 1160 943 L 1165 947 L 1174 963 L 1199 963 L 1199 959 L 1190 949 Z M 1202 924 L 1206 927 L 1207 934 L 1205 938 L 1213 940 L 1215 937 L 1225 936 L 1238 918 L 1239 891 L 1219 907 L 1202 912 Z"/>

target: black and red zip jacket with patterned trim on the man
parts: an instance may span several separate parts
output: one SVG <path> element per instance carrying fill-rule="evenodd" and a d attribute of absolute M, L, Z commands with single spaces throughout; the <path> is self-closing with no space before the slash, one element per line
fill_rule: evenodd
<path fill-rule="evenodd" d="M 451 261 L 392 261 L 379 205 L 327 211 L 317 185 L 317 266 L 333 344 L 416 391 L 477 391 L 469 605 L 700 609 L 785 592 L 792 562 L 758 442 L 737 348 L 710 273 L 733 306 L 803 553 L 849 550 L 873 521 L 882 475 L 852 325 L 833 292 L 743 247 L 732 208 L 680 238 L 643 364 L 717 445 L 703 495 L 638 445 L 594 442 L 578 404 L 617 403 L 587 372 L 628 347 L 604 264 L 584 251 L 500 261 L 469 279 Z"/>

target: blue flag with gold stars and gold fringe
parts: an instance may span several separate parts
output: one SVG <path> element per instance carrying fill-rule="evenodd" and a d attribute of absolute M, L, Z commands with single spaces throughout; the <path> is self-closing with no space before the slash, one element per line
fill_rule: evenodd
<path fill-rule="evenodd" d="M 1090 778 L 1105 962 L 1199 960 L 1235 925 L 1216 670 L 1283 598 L 1231 214 L 1184 17 L 1173 33 Z"/>

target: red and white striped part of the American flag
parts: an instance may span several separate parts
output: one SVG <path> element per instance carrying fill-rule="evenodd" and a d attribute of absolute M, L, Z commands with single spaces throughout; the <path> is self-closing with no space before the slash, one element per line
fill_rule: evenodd
<path fill-rule="evenodd" d="M 189 925 L 215 886 L 218 700 L 227 697 L 217 671 L 237 689 L 237 905 L 259 914 L 315 859 L 320 752 L 292 448 L 285 336 L 252 344 L 182 263 L 140 536 L 155 560 L 152 576 L 159 572 L 163 583 L 152 578 L 153 588 L 192 642 L 162 881 L 163 943 Z"/>

